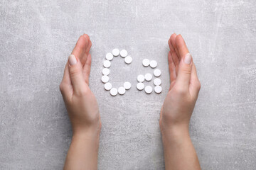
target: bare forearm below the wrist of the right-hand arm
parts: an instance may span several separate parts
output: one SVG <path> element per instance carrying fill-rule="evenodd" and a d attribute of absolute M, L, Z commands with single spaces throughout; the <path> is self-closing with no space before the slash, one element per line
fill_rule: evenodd
<path fill-rule="evenodd" d="M 166 169 L 201 169 L 188 128 L 162 132 Z"/>

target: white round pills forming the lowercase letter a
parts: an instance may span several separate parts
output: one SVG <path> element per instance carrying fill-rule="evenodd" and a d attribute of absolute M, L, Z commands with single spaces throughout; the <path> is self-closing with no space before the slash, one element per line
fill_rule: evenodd
<path fill-rule="evenodd" d="M 161 76 L 161 70 L 160 69 L 155 69 L 157 67 L 157 62 L 155 60 L 151 60 L 149 61 L 148 59 L 144 59 L 142 61 L 142 65 L 144 67 L 151 67 L 152 69 L 154 69 L 154 77 L 156 77 L 154 79 L 154 91 L 156 92 L 156 94 L 160 94 L 161 91 L 162 91 L 162 88 L 161 88 L 161 79 L 159 79 L 158 77 Z M 139 74 L 138 77 L 137 77 L 137 89 L 139 91 L 142 91 L 143 89 L 145 90 L 146 94 L 151 94 L 152 91 L 153 91 L 153 88 L 151 86 L 144 86 L 143 82 L 146 80 L 146 81 L 151 81 L 152 79 L 152 74 L 150 73 L 146 73 L 145 75 L 142 75 L 142 74 Z"/>

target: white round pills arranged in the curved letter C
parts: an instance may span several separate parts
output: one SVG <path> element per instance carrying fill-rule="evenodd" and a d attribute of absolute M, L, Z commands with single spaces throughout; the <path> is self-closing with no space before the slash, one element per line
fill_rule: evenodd
<path fill-rule="evenodd" d="M 124 82 L 124 86 L 120 86 L 118 89 L 112 87 L 112 84 L 109 82 L 110 78 L 108 77 L 108 75 L 110 74 L 110 66 L 111 66 L 111 60 L 113 60 L 114 57 L 118 57 L 121 56 L 122 58 L 124 58 L 124 62 L 126 64 L 130 64 L 132 63 L 132 57 L 128 55 L 127 50 L 121 50 L 119 51 L 117 48 L 115 48 L 114 50 L 112 50 L 112 53 L 109 52 L 106 55 L 106 60 L 103 62 L 103 66 L 105 67 L 104 69 L 102 69 L 102 82 L 105 83 L 104 88 L 107 91 L 110 91 L 110 94 L 112 96 L 117 96 L 117 94 L 125 94 L 125 91 L 131 89 L 132 84 L 128 81 Z"/>

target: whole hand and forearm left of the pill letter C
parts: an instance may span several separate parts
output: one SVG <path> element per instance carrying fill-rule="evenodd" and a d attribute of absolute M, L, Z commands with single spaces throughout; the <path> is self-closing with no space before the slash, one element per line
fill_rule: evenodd
<path fill-rule="evenodd" d="M 65 170 L 97 169 L 101 121 L 97 100 L 89 88 L 91 46 L 89 36 L 81 35 L 68 58 L 60 83 L 73 129 Z"/>

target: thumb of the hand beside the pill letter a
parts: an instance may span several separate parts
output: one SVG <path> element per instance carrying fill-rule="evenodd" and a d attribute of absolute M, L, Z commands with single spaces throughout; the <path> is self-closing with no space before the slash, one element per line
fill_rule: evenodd
<path fill-rule="evenodd" d="M 178 66 L 178 76 L 176 79 L 176 84 L 178 87 L 188 89 L 191 79 L 191 68 L 192 56 L 190 53 L 187 53 L 185 57 L 182 57 Z"/>

